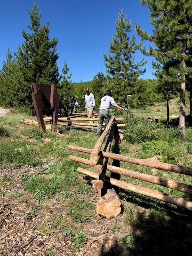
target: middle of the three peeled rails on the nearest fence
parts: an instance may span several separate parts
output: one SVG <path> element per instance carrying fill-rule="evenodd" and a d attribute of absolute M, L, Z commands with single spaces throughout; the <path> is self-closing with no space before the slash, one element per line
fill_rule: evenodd
<path fill-rule="evenodd" d="M 96 165 L 96 161 L 91 161 L 85 158 L 80 158 L 78 156 L 70 156 L 69 157 L 70 160 L 76 161 L 76 162 L 80 162 L 82 164 L 88 164 L 90 166 L 95 166 Z M 112 166 L 107 164 L 107 170 L 110 172 L 115 172 L 121 175 L 125 175 L 131 178 L 136 178 L 138 180 L 143 180 L 146 182 L 150 182 L 153 184 L 157 184 L 160 186 L 164 186 L 166 188 L 172 188 L 187 194 L 192 194 L 192 186 L 191 185 L 187 185 L 181 182 L 177 182 L 177 181 L 173 181 L 173 180 L 168 180 L 168 179 L 164 179 L 164 178 L 160 178 L 154 175 L 149 175 L 149 174 L 144 174 L 141 172 L 135 172 L 132 170 L 127 170 L 124 168 L 120 168 L 120 167 L 116 167 L 116 166 Z M 95 172 L 94 172 L 95 173 Z M 98 173 L 96 173 L 96 176 L 98 177 Z"/>

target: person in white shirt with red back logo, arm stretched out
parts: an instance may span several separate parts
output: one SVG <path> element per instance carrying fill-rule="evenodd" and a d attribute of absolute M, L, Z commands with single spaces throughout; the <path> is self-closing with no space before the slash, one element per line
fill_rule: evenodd
<path fill-rule="evenodd" d="M 104 119 L 105 119 L 106 126 L 109 123 L 109 120 L 111 118 L 111 116 L 110 116 L 110 106 L 111 106 L 111 104 L 116 108 L 119 108 L 119 109 L 124 110 L 124 111 L 128 111 L 127 108 L 122 108 L 121 106 L 119 106 L 114 101 L 114 98 L 111 97 L 111 91 L 107 90 L 104 94 L 104 97 L 101 98 L 101 104 L 100 104 L 100 108 L 99 108 L 99 124 L 98 124 L 98 127 L 97 127 L 96 136 L 101 135 L 101 130 L 102 130 L 102 125 L 103 125 Z"/>

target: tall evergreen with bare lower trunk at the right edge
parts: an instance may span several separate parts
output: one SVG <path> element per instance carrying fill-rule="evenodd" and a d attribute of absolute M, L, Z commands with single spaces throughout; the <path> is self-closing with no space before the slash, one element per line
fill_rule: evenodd
<path fill-rule="evenodd" d="M 180 126 L 185 131 L 185 91 L 186 74 L 191 73 L 191 66 L 186 62 L 191 58 L 192 47 L 192 0 L 140 0 L 150 10 L 150 23 L 154 26 L 153 34 L 148 35 L 136 25 L 136 31 L 142 40 L 154 42 L 148 54 L 154 56 L 165 66 L 167 80 L 177 78 L 180 81 Z M 145 51 L 145 49 L 144 49 Z M 170 62 L 172 62 L 171 65 Z M 168 70 L 167 70 L 168 68 Z"/>

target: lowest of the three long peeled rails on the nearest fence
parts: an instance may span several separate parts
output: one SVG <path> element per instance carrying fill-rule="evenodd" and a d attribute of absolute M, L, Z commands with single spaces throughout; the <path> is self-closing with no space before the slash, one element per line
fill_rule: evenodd
<path fill-rule="evenodd" d="M 83 169 L 80 167 L 77 168 L 77 171 L 80 173 L 86 174 L 92 178 L 97 178 L 97 174 L 95 174 L 92 171 L 89 171 L 89 170 L 86 170 L 86 169 Z M 158 192 L 157 190 L 152 190 L 149 188 L 144 188 L 142 186 L 133 185 L 133 184 L 127 183 L 125 181 L 116 180 L 114 178 L 110 178 L 107 176 L 105 177 L 105 181 L 114 186 L 117 186 L 119 188 L 130 190 L 132 192 L 136 192 L 136 193 L 142 194 L 144 196 L 150 196 L 152 198 L 156 198 L 158 200 L 162 200 L 164 202 L 168 202 L 170 204 L 175 204 L 177 206 L 186 208 L 188 210 L 192 210 L 192 202 L 184 200 L 183 198 L 177 198 L 175 196 L 171 196 L 171 195 L 168 195 L 168 194 L 165 194 L 162 192 Z"/>

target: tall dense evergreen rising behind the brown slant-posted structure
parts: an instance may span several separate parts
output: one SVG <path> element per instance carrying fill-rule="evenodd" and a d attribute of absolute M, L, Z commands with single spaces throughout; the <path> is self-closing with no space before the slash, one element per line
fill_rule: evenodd
<path fill-rule="evenodd" d="M 33 83 L 58 84 L 59 72 L 56 61 L 56 45 L 58 40 L 49 39 L 49 23 L 40 25 L 41 13 L 36 4 L 29 12 L 31 25 L 27 25 L 30 32 L 24 32 L 24 42 L 18 46 L 13 55 L 13 61 L 7 62 L 6 68 L 12 70 L 10 74 L 11 84 L 6 83 L 4 76 L 3 84 L 11 91 L 11 95 L 6 98 L 12 98 L 8 106 L 32 106 L 31 85 Z M 8 88 L 10 86 L 10 88 Z M 9 100 L 7 100 L 9 102 Z"/>

